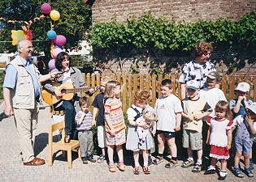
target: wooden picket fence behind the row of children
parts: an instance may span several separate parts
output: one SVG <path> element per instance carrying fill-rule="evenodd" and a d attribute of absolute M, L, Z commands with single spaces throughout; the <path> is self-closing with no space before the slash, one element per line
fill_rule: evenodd
<path fill-rule="evenodd" d="M 83 76 L 85 78 L 85 83 L 90 87 L 100 85 L 100 81 L 103 76 L 109 76 L 112 79 L 117 80 L 123 88 L 119 97 L 122 100 L 124 112 L 130 105 L 132 105 L 132 95 L 138 90 L 145 89 L 145 91 L 150 92 L 150 105 L 154 106 L 156 99 L 162 95 L 159 85 L 164 78 L 171 79 L 173 86 L 172 93 L 180 98 L 180 83 L 178 83 L 180 75 L 178 74 L 83 74 Z M 250 84 L 251 88 L 249 91 L 249 98 L 256 101 L 256 87 L 254 87 L 256 85 L 255 78 L 255 76 L 247 76 L 243 78 L 242 76 L 236 77 L 233 75 L 223 75 L 220 89 L 222 89 L 227 99 L 230 100 L 234 98 L 234 91 L 237 83 L 245 81 Z M 98 93 L 90 97 L 91 102 L 97 94 Z"/>

